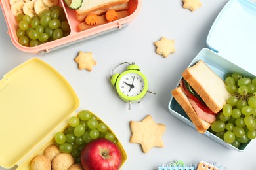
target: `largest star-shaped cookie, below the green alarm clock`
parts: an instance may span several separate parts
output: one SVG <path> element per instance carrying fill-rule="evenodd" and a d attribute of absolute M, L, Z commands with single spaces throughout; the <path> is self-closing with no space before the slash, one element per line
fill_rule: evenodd
<path fill-rule="evenodd" d="M 148 115 L 141 122 L 131 121 L 130 126 L 130 143 L 139 143 L 144 153 L 153 147 L 163 148 L 161 137 L 165 132 L 164 124 L 156 124 L 152 116 Z"/>

